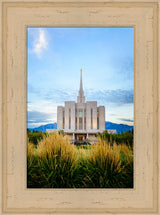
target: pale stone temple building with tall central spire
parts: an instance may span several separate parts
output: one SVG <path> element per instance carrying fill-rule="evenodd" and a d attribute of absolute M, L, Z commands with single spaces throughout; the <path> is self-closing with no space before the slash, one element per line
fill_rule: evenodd
<path fill-rule="evenodd" d="M 96 101 L 85 102 L 82 70 L 77 103 L 66 101 L 57 107 L 57 130 L 63 130 L 72 142 L 94 142 L 96 134 L 105 130 L 105 107 L 97 106 Z"/>

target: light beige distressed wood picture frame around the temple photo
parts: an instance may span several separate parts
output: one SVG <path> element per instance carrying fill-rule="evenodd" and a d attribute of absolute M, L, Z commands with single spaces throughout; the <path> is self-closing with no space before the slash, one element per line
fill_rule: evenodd
<path fill-rule="evenodd" d="M 1 0 L 0 214 L 160 214 L 159 6 Z M 28 26 L 134 27 L 134 189 L 27 189 Z"/>

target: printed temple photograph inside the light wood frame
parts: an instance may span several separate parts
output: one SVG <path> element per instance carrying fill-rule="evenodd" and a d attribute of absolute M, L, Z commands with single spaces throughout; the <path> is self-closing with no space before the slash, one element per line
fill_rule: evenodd
<path fill-rule="evenodd" d="M 133 188 L 134 28 L 27 32 L 27 187 Z"/>

